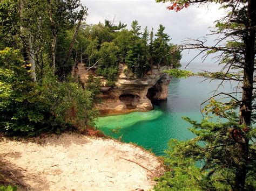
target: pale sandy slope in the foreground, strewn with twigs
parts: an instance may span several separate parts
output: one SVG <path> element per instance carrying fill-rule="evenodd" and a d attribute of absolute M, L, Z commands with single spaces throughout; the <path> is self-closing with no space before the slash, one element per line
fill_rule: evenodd
<path fill-rule="evenodd" d="M 32 142 L 2 139 L 0 156 L 2 171 L 36 190 L 148 190 L 150 171 L 163 173 L 157 158 L 139 147 L 68 133 Z"/>

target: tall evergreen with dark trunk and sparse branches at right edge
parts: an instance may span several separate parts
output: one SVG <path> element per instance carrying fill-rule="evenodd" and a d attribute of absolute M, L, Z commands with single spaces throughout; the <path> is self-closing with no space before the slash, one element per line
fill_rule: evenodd
<path fill-rule="evenodd" d="M 221 72 L 206 73 L 204 76 L 210 79 L 219 79 L 221 84 L 224 81 L 235 80 L 242 84 L 242 97 L 236 98 L 233 93 L 220 93 L 220 95 L 229 96 L 231 102 L 219 103 L 211 99 L 206 108 L 206 112 L 212 112 L 215 116 L 227 118 L 228 123 L 214 123 L 202 121 L 197 123 L 186 118 L 193 125 L 192 132 L 197 137 L 187 143 L 181 143 L 178 147 L 182 150 L 177 153 L 172 149 L 174 154 L 180 155 L 181 158 L 191 158 L 194 162 L 203 160 L 201 171 L 206 173 L 204 179 L 199 179 L 199 184 L 205 180 L 205 185 L 213 186 L 207 189 L 233 189 L 233 190 L 254 190 L 256 182 L 255 177 L 255 128 L 253 127 L 253 112 L 255 108 L 253 101 L 254 83 L 253 74 L 255 71 L 255 22 L 256 22 L 256 2 L 253 0 L 245 1 L 171 1 L 169 9 L 179 11 L 190 4 L 202 2 L 219 2 L 223 8 L 231 10 L 224 18 L 216 24 L 216 33 L 221 38 L 217 45 L 206 46 L 204 41 L 194 40 L 188 42 L 183 49 L 199 49 L 202 53 L 207 54 L 220 52 L 221 63 L 224 68 Z M 221 43 L 224 43 L 221 46 Z M 227 71 L 224 72 L 224 69 Z M 230 69 L 241 70 L 242 75 L 230 73 Z M 217 96 L 217 95 L 215 95 Z M 227 112 L 231 108 L 239 108 L 237 115 L 235 111 Z M 200 142 L 205 146 L 200 146 Z M 179 151 L 180 152 L 180 151 Z M 182 155 L 182 156 L 181 156 Z M 182 168 L 182 165 L 179 167 Z M 189 173 L 186 171 L 186 173 Z M 174 173 L 173 173 L 174 174 Z M 169 176 L 170 179 L 174 176 Z M 175 177 L 177 179 L 177 177 Z M 213 185 L 217 182 L 224 185 L 220 188 Z"/>

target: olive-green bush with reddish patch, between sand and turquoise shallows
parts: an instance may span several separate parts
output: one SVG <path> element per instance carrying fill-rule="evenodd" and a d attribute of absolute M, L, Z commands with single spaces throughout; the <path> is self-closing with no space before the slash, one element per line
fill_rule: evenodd
<path fill-rule="evenodd" d="M 92 82 L 91 82 L 92 83 Z M 90 84 L 91 87 L 92 84 Z M 73 126 L 85 129 L 93 124 L 97 110 L 93 108 L 93 96 L 99 91 L 97 87 L 83 89 L 81 84 L 72 77 L 65 82 L 59 82 L 56 77 L 45 75 L 42 82 L 43 96 L 49 103 L 53 115 L 52 126 Z"/>

